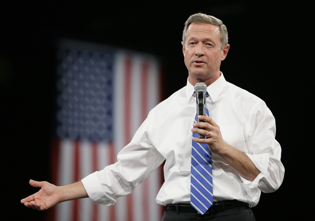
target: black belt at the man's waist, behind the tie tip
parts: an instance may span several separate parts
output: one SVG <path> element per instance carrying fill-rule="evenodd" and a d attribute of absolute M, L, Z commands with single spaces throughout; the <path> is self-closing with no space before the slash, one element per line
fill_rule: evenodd
<path fill-rule="evenodd" d="M 235 207 L 249 207 L 246 202 L 241 202 L 238 200 L 223 200 L 219 202 L 214 202 L 212 206 L 207 210 L 206 213 L 215 213 L 219 211 L 224 211 L 226 209 L 232 209 Z M 178 213 L 199 213 L 190 204 L 179 203 L 179 204 L 166 204 L 165 211 L 177 212 Z"/>

